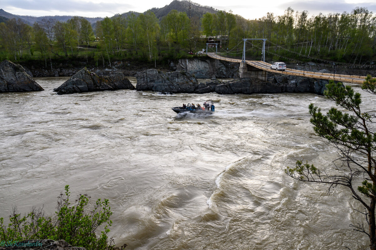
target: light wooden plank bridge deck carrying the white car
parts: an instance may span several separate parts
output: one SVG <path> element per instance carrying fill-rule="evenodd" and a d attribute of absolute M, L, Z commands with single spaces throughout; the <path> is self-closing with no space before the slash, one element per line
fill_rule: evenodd
<path fill-rule="evenodd" d="M 240 59 L 227 58 L 227 57 L 219 56 L 215 53 L 208 53 L 208 56 L 214 59 L 224 60 L 227 62 L 238 62 L 238 63 L 241 62 Z M 255 68 L 262 69 L 265 71 L 270 71 L 273 73 L 285 74 L 285 75 L 297 75 L 297 76 L 302 76 L 302 77 L 335 80 L 335 81 L 341 81 L 344 83 L 357 83 L 357 84 L 362 84 L 365 79 L 365 76 L 362 76 L 362 75 L 340 75 L 340 74 L 331 74 L 331 73 L 302 71 L 302 70 L 289 69 L 289 68 L 287 68 L 285 71 L 276 71 L 276 70 L 270 69 L 270 65 L 271 65 L 270 63 L 266 63 L 262 61 L 246 61 L 246 62 L 247 64 Z"/>

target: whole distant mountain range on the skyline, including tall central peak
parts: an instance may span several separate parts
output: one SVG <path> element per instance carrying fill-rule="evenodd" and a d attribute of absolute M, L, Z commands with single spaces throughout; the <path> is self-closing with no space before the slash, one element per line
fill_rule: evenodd
<path fill-rule="evenodd" d="M 191 13 L 189 11 L 190 5 L 191 5 Z M 162 17 L 167 16 L 167 14 L 170 11 L 172 11 L 173 9 L 176 9 L 177 11 L 180 11 L 180 12 L 185 12 L 188 15 L 188 17 L 191 14 L 191 17 L 197 16 L 199 18 L 201 18 L 202 15 L 207 13 L 207 12 L 212 13 L 212 14 L 215 14 L 215 13 L 218 12 L 218 10 L 216 10 L 212 7 L 202 6 L 202 5 L 199 5 L 198 3 L 193 3 L 193 2 L 190 2 L 190 1 L 186 1 L 186 0 L 182 0 L 182 1 L 174 0 L 169 5 L 166 5 L 162 8 L 152 8 L 152 9 L 150 9 L 150 11 L 154 12 L 155 16 L 159 20 L 161 20 Z M 141 14 L 139 12 L 129 11 L 129 12 L 121 14 L 121 16 L 126 18 L 131 13 L 134 13 L 136 16 Z M 115 15 L 114 17 L 117 17 L 117 16 L 118 15 Z M 68 21 L 69 19 L 73 18 L 74 16 L 44 16 L 44 17 L 21 16 L 21 15 L 14 15 L 14 14 L 11 14 L 9 12 L 4 11 L 3 9 L 0 9 L 0 22 L 1 22 L 1 20 L 3 20 L 3 19 L 1 19 L 1 17 L 8 18 L 8 19 L 21 18 L 21 20 L 23 20 L 25 23 L 27 23 L 29 25 L 33 25 L 33 23 L 40 22 L 44 18 L 65 22 L 65 21 Z M 88 20 L 92 25 L 95 24 L 97 21 L 103 20 L 102 17 L 95 17 L 95 18 L 83 17 L 83 18 Z"/>

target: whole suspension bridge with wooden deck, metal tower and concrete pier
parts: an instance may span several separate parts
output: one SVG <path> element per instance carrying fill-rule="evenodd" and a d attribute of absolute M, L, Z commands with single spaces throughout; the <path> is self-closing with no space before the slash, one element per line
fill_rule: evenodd
<path fill-rule="evenodd" d="M 255 60 L 246 60 L 246 41 L 247 40 L 263 40 L 263 47 L 262 47 L 262 56 L 263 60 L 255 61 Z M 362 84 L 365 76 L 362 75 L 344 75 L 344 74 L 335 74 L 335 73 L 323 73 L 323 72 L 312 72 L 306 70 L 298 70 L 298 69 L 291 69 L 287 68 L 285 71 L 277 71 L 271 69 L 271 64 L 265 62 L 265 41 L 266 39 L 243 39 L 244 47 L 243 47 L 243 57 L 242 59 L 234 59 L 231 57 L 220 56 L 216 52 L 208 53 L 208 49 L 206 49 L 206 54 L 218 60 L 223 60 L 227 62 L 236 62 L 240 63 L 239 67 L 239 75 L 240 78 L 256 78 L 259 80 L 267 81 L 267 72 L 279 73 L 284 75 L 296 75 L 301 77 L 309 77 L 309 78 L 317 78 L 317 79 L 324 79 L 324 80 L 335 80 L 341 81 L 344 83 L 357 83 Z"/>

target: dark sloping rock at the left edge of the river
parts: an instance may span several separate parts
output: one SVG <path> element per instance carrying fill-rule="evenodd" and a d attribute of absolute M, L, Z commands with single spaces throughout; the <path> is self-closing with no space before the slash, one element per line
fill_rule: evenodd
<path fill-rule="evenodd" d="M 0 93 L 44 90 L 18 64 L 5 60 L 0 63 Z"/>

